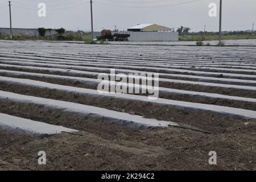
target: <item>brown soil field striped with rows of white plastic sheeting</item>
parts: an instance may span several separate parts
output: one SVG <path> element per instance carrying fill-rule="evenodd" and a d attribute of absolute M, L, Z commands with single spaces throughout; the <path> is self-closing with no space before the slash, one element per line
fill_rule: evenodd
<path fill-rule="evenodd" d="M 255 41 L 175 44 L 0 40 L 0 170 L 256 170 Z M 159 98 L 98 93 L 110 69 Z"/>

